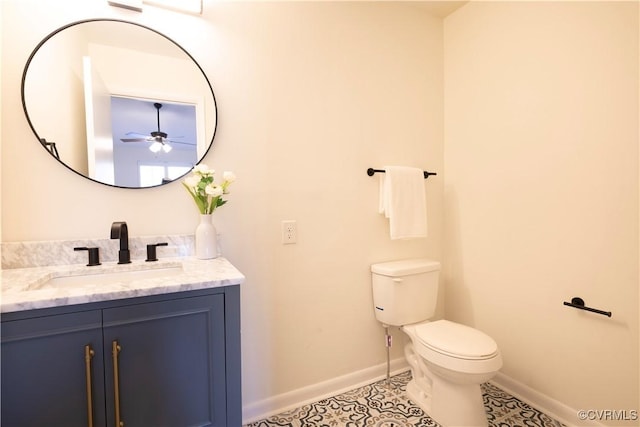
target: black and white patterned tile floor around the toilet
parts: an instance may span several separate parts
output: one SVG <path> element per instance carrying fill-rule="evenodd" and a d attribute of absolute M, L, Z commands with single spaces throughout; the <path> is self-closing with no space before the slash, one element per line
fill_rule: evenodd
<path fill-rule="evenodd" d="M 407 371 L 386 380 L 291 411 L 247 424 L 245 427 L 432 427 L 439 426 L 405 396 L 411 379 Z M 563 427 L 563 424 L 502 391 L 482 385 L 490 427 Z"/>

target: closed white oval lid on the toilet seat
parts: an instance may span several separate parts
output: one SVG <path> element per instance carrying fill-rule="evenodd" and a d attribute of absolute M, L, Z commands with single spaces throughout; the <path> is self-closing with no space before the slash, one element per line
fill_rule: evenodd
<path fill-rule="evenodd" d="M 432 350 L 463 359 L 487 359 L 498 351 L 498 345 L 490 336 L 448 320 L 418 325 L 416 335 Z"/>

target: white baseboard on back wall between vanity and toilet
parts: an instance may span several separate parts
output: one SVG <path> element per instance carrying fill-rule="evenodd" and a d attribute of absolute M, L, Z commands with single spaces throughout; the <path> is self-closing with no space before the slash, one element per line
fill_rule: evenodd
<path fill-rule="evenodd" d="M 396 375 L 407 370 L 409 370 L 409 365 L 404 357 L 391 361 L 391 375 Z M 338 378 L 243 405 L 243 424 L 262 420 L 308 403 L 317 402 L 318 400 L 374 383 L 384 379 L 386 375 L 387 364 L 383 363 Z"/>

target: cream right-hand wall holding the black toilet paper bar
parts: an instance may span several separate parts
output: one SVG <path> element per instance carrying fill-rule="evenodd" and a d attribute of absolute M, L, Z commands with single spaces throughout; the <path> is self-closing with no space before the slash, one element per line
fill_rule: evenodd
<path fill-rule="evenodd" d="M 576 409 L 638 409 L 638 60 L 637 2 L 445 20 L 446 317 Z"/>

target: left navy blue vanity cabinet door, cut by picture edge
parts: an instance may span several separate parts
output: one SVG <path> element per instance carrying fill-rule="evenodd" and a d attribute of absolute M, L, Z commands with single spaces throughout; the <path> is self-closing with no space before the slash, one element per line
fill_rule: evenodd
<path fill-rule="evenodd" d="M 105 426 L 100 310 L 2 322 L 2 427 Z M 85 346 L 90 346 L 89 372 Z M 91 396 L 87 395 L 87 373 Z"/>

